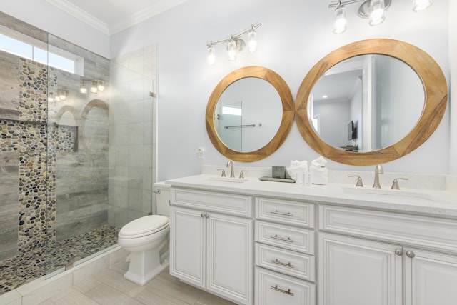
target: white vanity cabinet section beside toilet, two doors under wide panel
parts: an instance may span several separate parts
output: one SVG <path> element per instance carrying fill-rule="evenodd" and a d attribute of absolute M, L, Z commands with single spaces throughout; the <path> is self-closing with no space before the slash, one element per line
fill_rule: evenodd
<path fill-rule="evenodd" d="M 170 274 L 252 304 L 252 205 L 251 196 L 172 188 Z"/>

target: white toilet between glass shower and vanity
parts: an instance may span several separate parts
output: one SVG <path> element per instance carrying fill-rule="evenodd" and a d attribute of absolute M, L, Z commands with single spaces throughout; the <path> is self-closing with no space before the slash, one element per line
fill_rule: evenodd
<path fill-rule="evenodd" d="M 119 245 L 130 252 L 124 278 L 141 286 L 169 266 L 170 189 L 164 183 L 154 184 L 154 189 L 156 215 L 130 221 L 118 234 Z"/>

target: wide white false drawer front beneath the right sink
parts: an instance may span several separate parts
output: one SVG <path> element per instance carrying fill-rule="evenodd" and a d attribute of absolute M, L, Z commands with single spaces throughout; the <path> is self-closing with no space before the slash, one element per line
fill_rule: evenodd
<path fill-rule="evenodd" d="M 453 219 L 321 205 L 319 229 L 457 252 L 457 221 Z"/>

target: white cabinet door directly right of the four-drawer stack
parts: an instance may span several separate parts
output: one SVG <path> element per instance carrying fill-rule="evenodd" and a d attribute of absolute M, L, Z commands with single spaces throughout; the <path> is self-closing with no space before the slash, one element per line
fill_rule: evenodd
<path fill-rule="evenodd" d="M 401 305 L 403 256 L 393 246 L 319 234 L 321 305 Z"/>

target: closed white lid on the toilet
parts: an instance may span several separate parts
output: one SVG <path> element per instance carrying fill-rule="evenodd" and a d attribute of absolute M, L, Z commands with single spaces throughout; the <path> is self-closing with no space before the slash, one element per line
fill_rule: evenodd
<path fill-rule="evenodd" d="M 119 231 L 119 236 L 135 238 L 154 234 L 169 226 L 169 218 L 161 215 L 143 216 L 130 221 Z"/>

